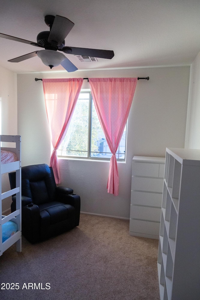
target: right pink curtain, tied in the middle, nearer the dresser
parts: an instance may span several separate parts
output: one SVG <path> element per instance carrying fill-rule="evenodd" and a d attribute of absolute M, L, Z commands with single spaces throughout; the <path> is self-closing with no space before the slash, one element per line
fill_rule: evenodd
<path fill-rule="evenodd" d="M 118 195 L 119 175 L 116 159 L 127 122 L 138 78 L 89 78 L 97 114 L 112 153 L 108 175 L 108 193 Z"/>

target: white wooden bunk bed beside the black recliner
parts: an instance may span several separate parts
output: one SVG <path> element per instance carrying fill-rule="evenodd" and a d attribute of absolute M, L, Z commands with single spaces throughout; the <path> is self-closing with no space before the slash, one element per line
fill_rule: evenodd
<path fill-rule="evenodd" d="M 16 243 L 17 252 L 22 251 L 22 228 L 21 228 L 21 136 L 16 135 L 0 135 L 1 142 L 1 154 L 0 154 L 0 174 L 16 171 L 16 188 L 2 193 L 2 179 L 0 180 L 0 213 L 2 215 L 2 199 L 8 198 L 13 194 L 16 194 L 16 211 L 10 213 L 8 216 L 2 216 L 0 218 L 0 256 L 4 251 L 6 251 L 10 246 Z M 11 144 L 12 143 L 12 144 Z M 4 147 L 4 145 L 6 147 Z M 8 147 L 7 147 L 8 146 Z M 10 147 L 11 146 L 11 147 Z M 14 148 L 12 148 L 14 147 Z M 15 157 L 11 159 L 11 162 L 7 162 L 3 157 L 6 156 Z M 14 161 L 13 161 L 14 160 Z M 17 231 L 8 237 L 4 242 L 2 242 L 2 225 L 8 221 L 12 221 L 17 224 Z M 10 223 L 10 222 L 9 222 Z M 8 223 L 7 223 L 8 224 Z M 13 224 L 14 225 L 14 224 Z M 16 225 L 15 225 L 16 226 Z M 5 227 L 5 226 L 4 226 Z"/>

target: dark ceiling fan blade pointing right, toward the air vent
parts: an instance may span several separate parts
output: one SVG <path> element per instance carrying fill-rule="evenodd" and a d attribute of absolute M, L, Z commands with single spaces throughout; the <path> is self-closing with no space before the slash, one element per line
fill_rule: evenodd
<path fill-rule="evenodd" d="M 98 57 L 98 58 L 111 59 L 114 56 L 113 50 L 100 50 L 100 49 L 77 48 L 77 47 L 63 47 L 62 49 L 58 49 L 58 50 L 68 54 L 91 56 L 91 57 Z"/>

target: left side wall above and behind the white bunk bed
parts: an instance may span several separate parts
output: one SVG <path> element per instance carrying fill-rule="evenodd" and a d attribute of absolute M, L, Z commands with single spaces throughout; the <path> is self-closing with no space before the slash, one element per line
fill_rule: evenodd
<path fill-rule="evenodd" d="M 2 134 L 17 135 L 17 74 L 0 67 Z M 10 189 L 8 174 L 2 175 L 2 192 Z M 11 197 L 2 200 L 2 211 L 10 208 Z"/>

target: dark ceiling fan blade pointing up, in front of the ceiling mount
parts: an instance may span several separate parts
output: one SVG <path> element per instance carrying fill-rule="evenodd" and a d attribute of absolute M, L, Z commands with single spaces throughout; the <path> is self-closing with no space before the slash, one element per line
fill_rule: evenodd
<path fill-rule="evenodd" d="M 48 42 L 58 43 L 58 46 L 64 41 L 65 37 L 73 28 L 74 23 L 65 17 L 56 15 L 48 37 Z"/>

